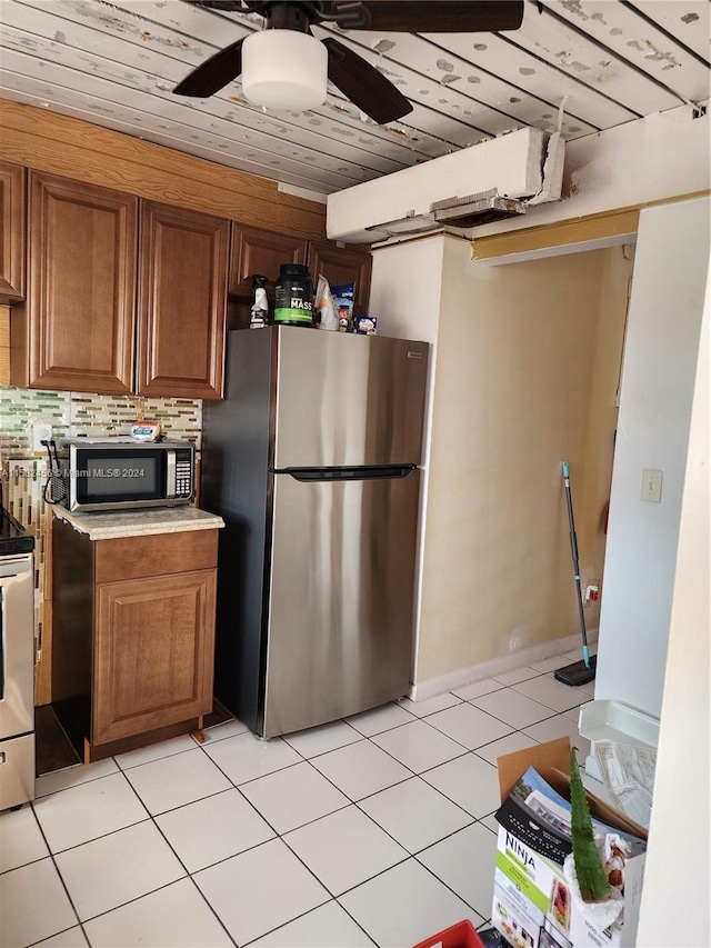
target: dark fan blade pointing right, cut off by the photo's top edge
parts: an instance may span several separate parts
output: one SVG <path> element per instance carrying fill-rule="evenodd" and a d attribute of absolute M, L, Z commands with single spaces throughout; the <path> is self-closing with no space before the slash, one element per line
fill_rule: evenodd
<path fill-rule="evenodd" d="M 369 30 L 401 33 L 478 33 L 518 30 L 523 0 L 365 0 Z M 338 9 L 338 0 L 332 4 Z"/>

